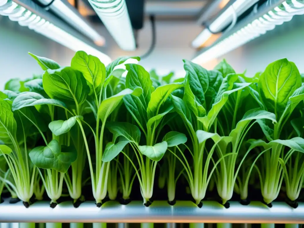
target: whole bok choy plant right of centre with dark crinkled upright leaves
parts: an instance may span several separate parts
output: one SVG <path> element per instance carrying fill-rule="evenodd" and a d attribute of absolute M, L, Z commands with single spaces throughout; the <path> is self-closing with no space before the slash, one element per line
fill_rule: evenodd
<path fill-rule="evenodd" d="M 172 103 L 175 111 L 181 116 L 191 139 L 188 151 L 191 154 L 192 161 L 187 161 L 186 157 L 184 157 L 184 161 L 181 162 L 187 173 L 192 197 L 195 199 L 196 204 L 200 204 L 206 195 L 212 173 L 220 161 L 217 161 L 214 167 L 209 170 L 212 154 L 218 143 L 231 140 L 230 137 L 220 136 L 216 133 L 216 117 L 223 105 L 225 105 L 228 96 L 233 92 L 242 90 L 248 84 L 233 88 L 234 83 L 237 81 L 236 74 L 230 74 L 223 78 L 221 72 L 216 70 L 207 71 L 188 60 L 184 60 L 184 68 L 186 77 L 183 98 L 173 95 Z M 213 123 L 214 127 L 212 127 Z M 214 131 L 214 133 L 210 131 Z M 212 139 L 214 144 L 207 150 L 205 144 L 208 139 Z M 231 153 L 223 154 L 220 159 L 229 155 Z M 190 167 L 192 162 L 193 170 Z"/>

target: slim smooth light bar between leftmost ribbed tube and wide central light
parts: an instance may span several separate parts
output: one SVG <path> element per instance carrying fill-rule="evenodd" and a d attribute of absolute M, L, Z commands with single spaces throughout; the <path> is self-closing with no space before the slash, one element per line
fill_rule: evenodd
<path fill-rule="evenodd" d="M 49 5 L 52 0 L 38 0 L 43 5 Z M 66 0 L 54 0 L 49 8 L 61 19 L 65 20 L 85 36 L 88 36 L 98 46 L 105 44 L 105 38 L 96 32 L 94 28 L 83 18 L 80 13 Z"/>

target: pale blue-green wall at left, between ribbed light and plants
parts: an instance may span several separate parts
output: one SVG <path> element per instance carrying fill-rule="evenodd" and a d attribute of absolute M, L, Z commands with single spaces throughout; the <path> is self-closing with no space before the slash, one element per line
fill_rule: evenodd
<path fill-rule="evenodd" d="M 28 52 L 69 65 L 74 52 L 17 22 L 0 16 L 0 90 L 10 78 L 29 78 L 42 72 Z"/>

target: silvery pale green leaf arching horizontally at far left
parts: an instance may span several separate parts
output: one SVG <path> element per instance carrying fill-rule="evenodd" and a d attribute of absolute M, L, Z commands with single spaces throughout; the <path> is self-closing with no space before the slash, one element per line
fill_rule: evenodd
<path fill-rule="evenodd" d="M 55 105 L 59 107 L 65 108 L 66 105 L 56 99 L 47 99 L 44 98 L 39 93 L 35 92 L 23 92 L 20 93 L 12 103 L 12 110 L 18 110 L 28 106 L 35 106 L 35 105 Z"/>

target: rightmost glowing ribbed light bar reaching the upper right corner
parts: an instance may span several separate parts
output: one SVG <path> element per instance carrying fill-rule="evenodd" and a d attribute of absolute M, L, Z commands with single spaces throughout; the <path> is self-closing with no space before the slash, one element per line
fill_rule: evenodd
<path fill-rule="evenodd" d="M 208 50 L 203 50 L 202 54 L 195 57 L 192 62 L 202 64 L 222 56 L 274 29 L 275 26 L 290 21 L 294 15 L 304 14 L 303 0 L 279 1 L 275 7 L 273 5 L 271 7 L 269 1 L 264 3 L 264 7 L 262 6 L 264 10 L 266 9 L 266 13 L 257 17 L 255 16 L 254 18 L 256 19 L 254 20 L 252 20 L 252 15 L 249 15 L 248 17 L 251 18 L 251 22 L 248 23 L 248 18 L 245 19 L 245 23 L 242 23 L 245 26 L 239 27 L 231 35 L 222 38 Z M 268 9 L 269 7 L 272 9 Z M 262 11 L 265 12 L 264 10 Z"/>

